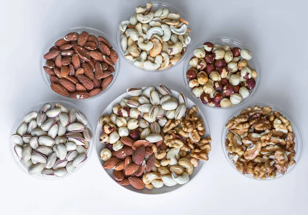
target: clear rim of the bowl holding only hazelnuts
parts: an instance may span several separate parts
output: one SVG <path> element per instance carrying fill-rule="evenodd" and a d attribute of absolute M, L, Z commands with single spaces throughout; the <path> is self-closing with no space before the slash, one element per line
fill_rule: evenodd
<path fill-rule="evenodd" d="M 196 97 L 194 93 L 192 93 L 192 90 L 191 88 L 188 86 L 188 81 L 187 81 L 187 77 L 186 77 L 186 71 L 187 71 L 187 67 L 189 65 L 189 61 L 190 61 L 190 58 L 189 56 L 192 56 L 193 52 L 197 49 L 197 48 L 200 48 L 203 43 L 205 42 L 211 42 L 211 41 L 215 41 L 215 40 L 220 40 L 220 41 L 226 41 L 224 43 L 236 43 L 236 45 L 240 46 L 240 47 L 243 47 L 245 49 L 248 49 L 252 55 L 253 55 L 253 58 L 256 62 L 256 65 L 255 65 L 255 69 L 257 70 L 258 69 L 258 76 L 257 76 L 257 79 L 258 82 L 256 81 L 256 86 L 255 88 L 251 91 L 251 93 L 249 94 L 249 96 L 242 100 L 242 102 L 240 104 L 237 104 L 237 105 L 233 105 L 233 106 L 230 106 L 230 107 L 227 107 L 227 108 L 222 108 L 222 107 L 212 107 L 212 106 L 209 106 L 209 105 L 206 105 L 206 104 L 203 104 L 200 100 L 200 98 Z M 200 104 L 202 104 L 202 106 L 204 107 L 208 107 L 208 108 L 213 108 L 213 109 L 216 109 L 216 110 L 219 110 L 219 109 L 222 109 L 222 110 L 230 110 L 230 109 L 236 109 L 236 108 L 239 108 L 239 107 L 242 107 L 244 105 L 247 104 L 247 101 L 249 101 L 258 91 L 260 85 L 261 85 L 261 82 L 262 82 L 262 67 L 261 67 L 261 64 L 258 60 L 258 57 L 257 55 L 255 54 L 254 51 L 252 51 L 251 48 L 249 48 L 248 46 L 244 45 L 241 41 L 237 40 L 236 38 L 234 37 L 228 37 L 228 36 L 217 36 L 217 37 L 210 37 L 210 38 L 206 38 L 205 40 L 203 40 L 202 42 L 200 42 L 199 44 L 197 44 L 196 46 L 194 46 L 192 48 L 192 50 L 190 50 L 190 52 L 188 53 L 188 55 L 185 57 L 185 61 L 184 61 L 184 66 L 183 66 L 183 80 L 184 80 L 184 83 L 185 83 L 185 86 L 186 88 L 188 89 L 189 91 L 189 94 L 194 97 L 195 100 L 197 100 Z"/>

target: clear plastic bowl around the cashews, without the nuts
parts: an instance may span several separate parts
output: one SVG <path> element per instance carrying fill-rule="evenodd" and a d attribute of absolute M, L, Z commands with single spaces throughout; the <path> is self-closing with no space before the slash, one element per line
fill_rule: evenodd
<path fill-rule="evenodd" d="M 142 70 L 142 71 L 146 71 L 146 72 L 164 72 L 164 71 L 167 71 L 171 68 L 174 68 L 175 66 L 181 64 L 181 62 L 184 60 L 185 56 L 187 55 L 188 51 L 190 50 L 190 46 L 192 44 L 192 29 L 191 29 L 191 25 L 189 23 L 189 20 L 186 18 L 185 14 L 183 14 L 183 12 L 181 12 L 178 8 L 168 4 L 168 3 L 165 3 L 165 2 L 159 2 L 159 1 L 153 1 L 153 2 L 148 2 L 148 3 L 151 3 L 152 4 L 152 9 L 151 10 L 158 10 L 160 8 L 165 8 L 167 7 L 169 9 L 170 12 L 175 12 L 175 13 L 179 13 L 181 15 L 181 17 L 183 17 L 185 20 L 188 21 L 188 25 L 187 25 L 187 28 L 190 29 L 190 32 L 189 32 L 189 37 L 191 38 L 191 41 L 190 41 L 190 44 L 187 46 L 187 49 L 186 49 L 186 52 L 182 55 L 182 58 L 179 62 L 177 62 L 174 66 L 171 66 L 167 69 L 162 69 L 162 70 L 146 70 L 146 69 L 143 69 L 143 68 L 140 68 L 140 67 L 137 67 L 133 64 L 133 62 L 127 60 L 127 58 L 124 56 L 124 52 L 121 48 L 121 45 L 120 45 L 120 36 L 122 34 L 122 31 L 119 29 L 119 24 L 122 22 L 122 21 L 126 21 L 128 20 L 129 21 L 129 18 L 130 16 L 132 16 L 133 14 L 136 13 L 136 7 L 138 6 L 141 6 L 141 7 L 146 7 L 146 3 L 143 3 L 143 4 L 138 4 L 136 6 L 134 6 L 132 9 L 130 9 L 127 13 L 125 13 L 122 18 L 120 19 L 120 21 L 118 22 L 118 25 L 115 27 L 115 38 L 117 40 L 117 45 L 118 45 L 118 50 L 121 52 L 121 55 L 123 56 L 123 58 L 131 65 L 133 65 L 134 67 Z"/>

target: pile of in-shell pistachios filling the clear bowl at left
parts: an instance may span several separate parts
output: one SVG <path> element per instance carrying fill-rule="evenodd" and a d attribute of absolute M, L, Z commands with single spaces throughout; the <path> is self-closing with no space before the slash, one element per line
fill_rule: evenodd
<path fill-rule="evenodd" d="M 92 132 L 81 111 L 46 103 L 39 111 L 26 114 L 23 121 L 12 143 L 30 174 L 64 177 L 87 159 Z"/>

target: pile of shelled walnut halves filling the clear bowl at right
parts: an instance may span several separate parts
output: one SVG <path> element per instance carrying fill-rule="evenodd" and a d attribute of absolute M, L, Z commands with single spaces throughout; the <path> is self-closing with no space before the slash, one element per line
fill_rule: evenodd
<path fill-rule="evenodd" d="M 265 180 L 296 163 L 291 122 L 271 107 L 243 109 L 226 128 L 226 149 L 239 172 Z"/>

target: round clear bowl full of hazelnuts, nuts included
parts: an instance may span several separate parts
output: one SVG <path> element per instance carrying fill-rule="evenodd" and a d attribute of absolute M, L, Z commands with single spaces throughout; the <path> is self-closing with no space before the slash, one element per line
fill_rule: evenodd
<path fill-rule="evenodd" d="M 257 91 L 261 67 L 253 52 L 227 37 L 200 43 L 185 61 L 184 81 L 198 101 L 209 107 L 242 104 Z"/>

